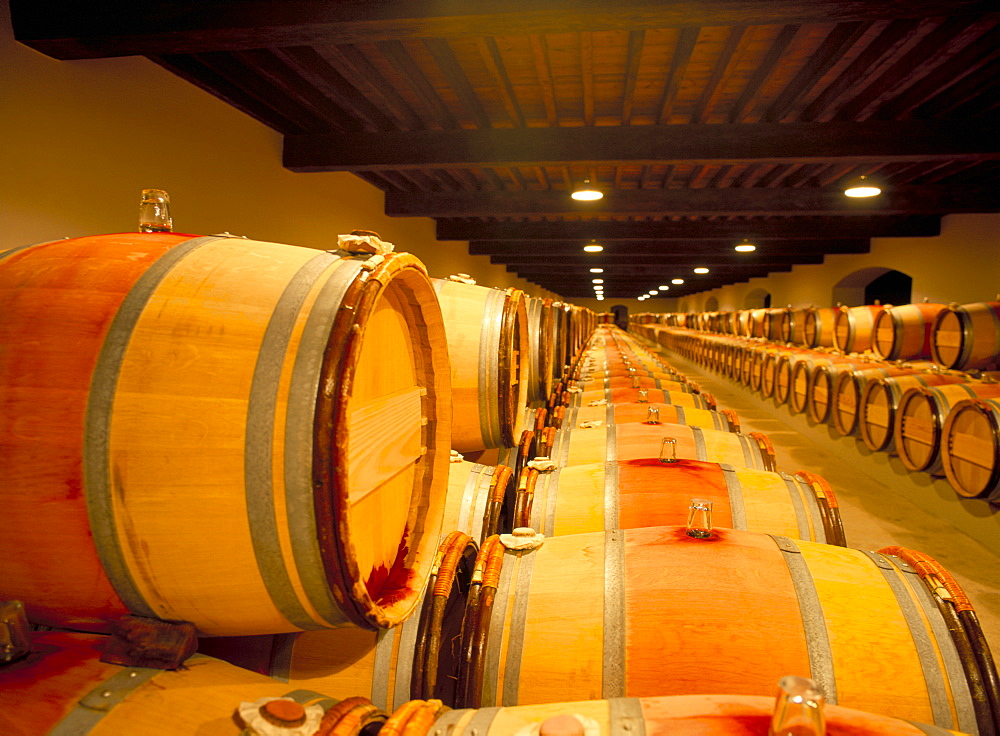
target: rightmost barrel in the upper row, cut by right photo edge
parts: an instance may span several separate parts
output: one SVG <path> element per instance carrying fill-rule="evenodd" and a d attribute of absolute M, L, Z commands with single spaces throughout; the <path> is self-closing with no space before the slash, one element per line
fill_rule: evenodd
<path fill-rule="evenodd" d="M 931 355 L 945 368 L 1000 368 L 1000 301 L 941 310 L 931 328 Z"/>

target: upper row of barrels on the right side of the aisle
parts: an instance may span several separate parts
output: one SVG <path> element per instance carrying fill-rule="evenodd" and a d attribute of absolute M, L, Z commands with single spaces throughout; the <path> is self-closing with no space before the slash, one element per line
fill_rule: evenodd
<path fill-rule="evenodd" d="M 932 360 L 945 369 L 1000 368 L 1000 302 L 643 313 L 632 322 L 846 353 L 870 350 L 885 360 Z"/>

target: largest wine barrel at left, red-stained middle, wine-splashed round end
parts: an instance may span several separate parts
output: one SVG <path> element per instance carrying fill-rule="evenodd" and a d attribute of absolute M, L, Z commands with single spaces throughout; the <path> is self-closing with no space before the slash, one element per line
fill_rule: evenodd
<path fill-rule="evenodd" d="M 206 634 L 409 614 L 451 413 L 412 255 L 73 238 L 0 261 L 0 311 L 0 598 L 85 630 L 129 611 Z"/>

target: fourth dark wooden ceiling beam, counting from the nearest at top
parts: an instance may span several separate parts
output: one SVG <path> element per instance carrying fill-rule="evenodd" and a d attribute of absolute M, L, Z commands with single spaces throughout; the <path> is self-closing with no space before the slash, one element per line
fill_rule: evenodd
<path fill-rule="evenodd" d="M 941 234 L 941 217 L 803 217 L 712 222 L 469 222 L 438 221 L 438 240 L 718 240 L 730 238 L 909 238 Z"/>

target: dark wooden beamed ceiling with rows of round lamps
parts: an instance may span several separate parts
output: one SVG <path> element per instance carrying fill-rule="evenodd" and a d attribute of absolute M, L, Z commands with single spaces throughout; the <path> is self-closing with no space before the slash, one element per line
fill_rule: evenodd
<path fill-rule="evenodd" d="M 993 2 L 10 4 L 21 42 L 146 56 L 281 133 L 289 169 L 354 172 L 567 298 L 592 267 L 682 296 L 1000 210 Z M 859 175 L 883 194 L 844 197 Z M 603 199 L 569 198 L 586 180 Z"/>

